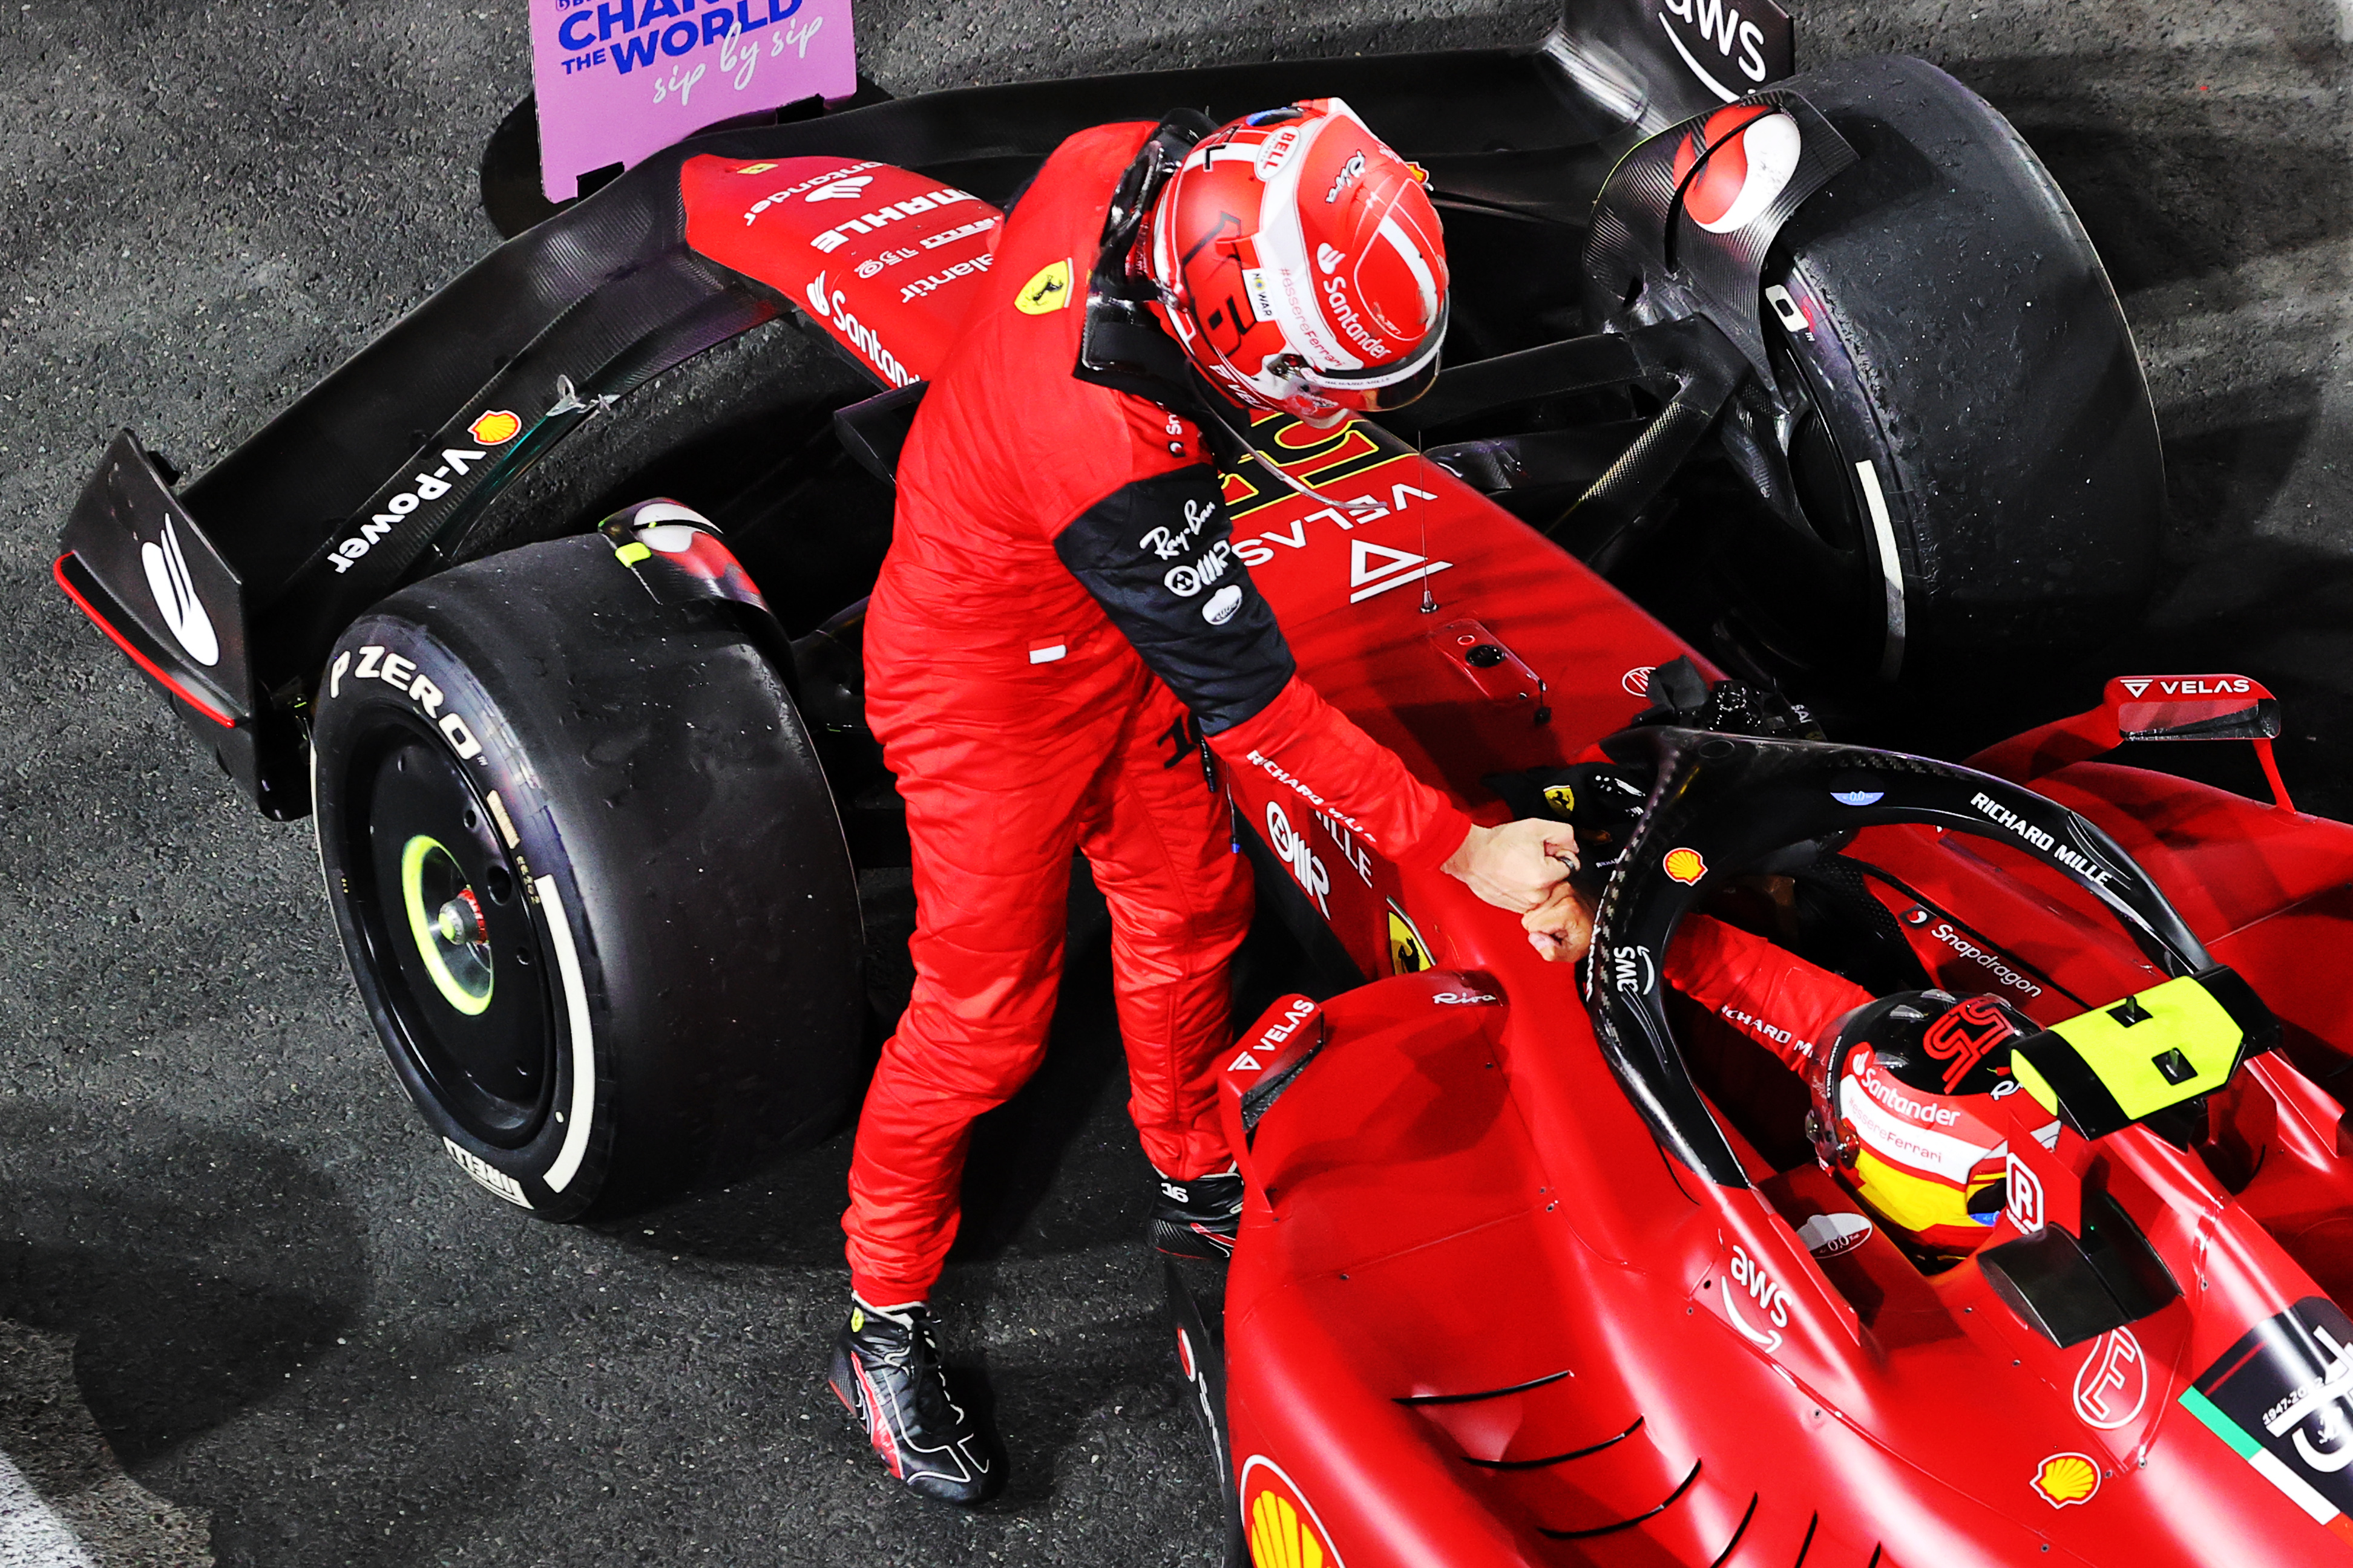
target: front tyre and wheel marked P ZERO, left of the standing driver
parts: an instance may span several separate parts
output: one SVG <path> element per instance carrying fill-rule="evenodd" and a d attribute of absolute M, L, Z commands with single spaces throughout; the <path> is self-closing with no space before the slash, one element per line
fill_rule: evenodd
<path fill-rule="evenodd" d="M 856 884 L 734 614 L 562 538 L 384 599 L 320 679 L 360 999 L 449 1159 L 546 1220 L 734 1175 L 859 1081 Z"/>

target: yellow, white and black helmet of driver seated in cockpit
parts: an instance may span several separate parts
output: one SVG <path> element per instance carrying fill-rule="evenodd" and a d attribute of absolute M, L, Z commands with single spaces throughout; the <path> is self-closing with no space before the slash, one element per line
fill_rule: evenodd
<path fill-rule="evenodd" d="M 1941 990 L 1854 1009 L 1814 1058 L 1814 1154 L 1915 1248 L 1974 1251 L 2007 1194 L 2009 1041 L 2035 1027 L 2007 1001 Z"/>

